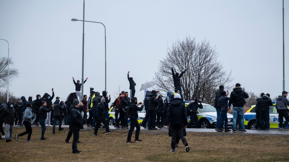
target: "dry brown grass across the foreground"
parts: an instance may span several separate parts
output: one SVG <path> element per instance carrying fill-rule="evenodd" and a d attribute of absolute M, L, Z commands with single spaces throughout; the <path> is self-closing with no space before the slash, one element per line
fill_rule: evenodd
<path fill-rule="evenodd" d="M 13 135 L 24 129 L 14 127 Z M 81 130 L 83 143 L 78 144 L 78 149 L 83 152 L 73 154 L 72 139 L 70 143 L 64 141 L 68 128 L 52 135 L 52 127 L 48 127 L 47 140 L 40 141 L 41 128 L 33 127 L 33 143 L 26 143 L 27 135 L 9 143 L 0 141 L 0 161 L 289 161 L 289 139 L 285 135 L 187 132 L 190 152 L 186 153 L 180 144 L 175 153 L 170 153 L 171 138 L 162 130 L 141 130 L 143 141 L 131 144 L 125 143 L 127 129 L 110 134 L 100 129 L 98 136 L 93 136 L 91 128 Z"/>

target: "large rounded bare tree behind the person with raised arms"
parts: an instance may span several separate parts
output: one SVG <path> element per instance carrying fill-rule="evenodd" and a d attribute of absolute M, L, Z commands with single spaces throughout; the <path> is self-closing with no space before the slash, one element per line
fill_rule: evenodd
<path fill-rule="evenodd" d="M 196 43 L 195 38 L 186 37 L 176 41 L 163 60 L 160 60 L 159 71 L 155 72 L 154 81 L 160 91 L 173 91 L 171 67 L 175 72 L 187 70 L 181 78 L 183 96 L 186 101 L 201 98 L 208 103 L 214 102 L 214 92 L 219 85 L 229 87 L 234 80 L 231 71 L 227 73 L 217 58 L 216 47 L 209 41 Z"/>

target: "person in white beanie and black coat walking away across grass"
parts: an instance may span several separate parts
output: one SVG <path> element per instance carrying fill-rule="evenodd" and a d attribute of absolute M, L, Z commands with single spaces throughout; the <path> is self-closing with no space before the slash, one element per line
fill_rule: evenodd
<path fill-rule="evenodd" d="M 180 94 L 175 94 L 174 98 L 170 101 L 168 107 L 167 122 L 166 122 L 166 125 L 168 127 L 171 127 L 172 131 L 172 141 L 171 141 L 172 150 L 170 152 L 175 152 L 176 136 L 179 136 L 180 139 L 182 140 L 186 152 L 190 151 L 187 140 L 183 136 L 183 128 L 187 128 L 187 124 L 188 119 L 185 103 L 181 99 Z"/>

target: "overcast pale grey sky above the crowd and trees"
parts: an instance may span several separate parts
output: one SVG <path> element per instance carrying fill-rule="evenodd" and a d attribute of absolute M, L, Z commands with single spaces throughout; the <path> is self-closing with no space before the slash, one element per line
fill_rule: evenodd
<path fill-rule="evenodd" d="M 285 7 L 285 90 L 289 91 L 289 1 Z M 0 39 L 9 41 L 19 69 L 11 82 L 16 96 L 51 94 L 66 98 L 81 80 L 82 0 L 0 0 Z M 152 80 L 157 64 L 173 42 L 186 36 L 207 39 L 219 61 L 247 91 L 282 92 L 282 0 L 255 1 L 85 1 L 85 20 L 106 26 L 107 91 L 129 91 L 127 71 L 136 82 Z M 105 87 L 104 27 L 85 23 L 84 93 Z M 0 40 L 0 56 L 7 56 Z M 286 70 L 287 69 L 287 70 Z"/>

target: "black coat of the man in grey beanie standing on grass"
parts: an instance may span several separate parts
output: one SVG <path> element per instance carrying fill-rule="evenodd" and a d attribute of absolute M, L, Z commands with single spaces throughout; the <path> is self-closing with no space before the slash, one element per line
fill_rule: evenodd
<path fill-rule="evenodd" d="M 81 130 L 83 129 L 82 125 L 82 116 L 78 108 L 76 108 L 74 105 L 70 106 L 70 112 L 71 112 L 71 119 L 70 119 L 70 128 L 73 131 Z"/>

